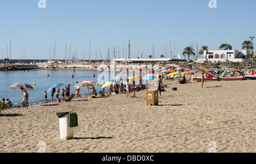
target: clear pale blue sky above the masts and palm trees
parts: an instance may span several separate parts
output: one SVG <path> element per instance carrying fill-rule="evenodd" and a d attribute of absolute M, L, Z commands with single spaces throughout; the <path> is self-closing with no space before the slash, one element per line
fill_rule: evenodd
<path fill-rule="evenodd" d="M 120 57 L 131 40 L 131 57 L 152 54 L 154 45 L 156 57 L 172 51 L 182 54 L 188 46 L 188 39 L 210 49 L 228 42 L 233 49 L 256 36 L 254 17 L 256 1 L 217 0 L 217 8 L 209 8 L 210 0 L 46 0 L 46 8 L 38 7 L 39 0 L 0 1 L 0 59 L 2 49 L 6 56 L 6 44 L 11 59 L 49 59 L 56 41 L 56 59 L 64 59 L 65 41 L 71 55 L 88 59 L 106 59 L 118 46 Z M 22 50 L 22 57 L 20 51 Z M 68 52 L 67 52 L 68 55 Z"/>

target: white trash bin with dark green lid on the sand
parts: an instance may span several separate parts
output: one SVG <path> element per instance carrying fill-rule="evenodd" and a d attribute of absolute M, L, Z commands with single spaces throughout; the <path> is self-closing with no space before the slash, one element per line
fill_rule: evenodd
<path fill-rule="evenodd" d="M 61 140 L 67 140 L 72 139 L 74 135 L 74 127 L 77 126 L 77 117 L 76 117 L 76 126 L 71 125 L 73 120 L 72 115 L 76 116 L 76 113 L 57 113 L 57 116 L 59 116 L 59 122 L 60 122 L 60 139 Z"/>

